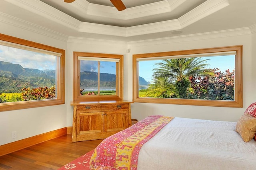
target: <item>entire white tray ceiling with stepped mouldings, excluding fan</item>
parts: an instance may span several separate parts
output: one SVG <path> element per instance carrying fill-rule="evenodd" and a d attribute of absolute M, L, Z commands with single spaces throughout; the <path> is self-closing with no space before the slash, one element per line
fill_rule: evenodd
<path fill-rule="evenodd" d="M 245 29 L 256 24 L 256 0 L 1 0 L 8 16 L 67 37 L 140 41 Z"/>

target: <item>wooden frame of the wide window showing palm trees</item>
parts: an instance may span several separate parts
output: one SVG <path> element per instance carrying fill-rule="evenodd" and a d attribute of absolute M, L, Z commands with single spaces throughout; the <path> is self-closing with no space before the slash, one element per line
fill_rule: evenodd
<path fill-rule="evenodd" d="M 197 99 L 176 99 L 176 98 L 140 98 L 138 96 L 138 58 L 164 57 L 177 55 L 194 55 L 202 53 L 220 53 L 236 51 L 235 55 L 235 100 L 197 100 Z M 133 55 L 133 102 L 158 103 L 158 104 L 181 104 L 195 106 L 218 106 L 218 107 L 243 107 L 243 77 L 242 77 L 242 53 L 243 46 L 215 47 L 207 49 L 193 49 L 184 51 L 169 51 L 160 53 L 146 53 Z"/>

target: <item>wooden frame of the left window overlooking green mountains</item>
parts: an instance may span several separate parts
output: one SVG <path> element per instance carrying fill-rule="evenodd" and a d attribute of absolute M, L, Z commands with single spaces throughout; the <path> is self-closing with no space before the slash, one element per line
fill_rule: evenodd
<path fill-rule="evenodd" d="M 40 43 L 35 43 L 32 41 L 28 41 L 20 38 L 16 38 L 16 37 L 12 37 L 9 35 L 4 35 L 4 34 L 0 34 L 0 40 L 61 54 L 61 57 L 57 57 L 57 63 L 58 63 L 56 68 L 56 94 L 57 95 L 55 99 L 0 103 L 0 111 L 10 111 L 10 110 L 27 109 L 27 108 L 43 107 L 43 106 L 54 106 L 54 105 L 65 103 L 65 83 L 64 83 L 65 82 L 65 50 L 51 47 L 48 45 L 43 45 Z"/>

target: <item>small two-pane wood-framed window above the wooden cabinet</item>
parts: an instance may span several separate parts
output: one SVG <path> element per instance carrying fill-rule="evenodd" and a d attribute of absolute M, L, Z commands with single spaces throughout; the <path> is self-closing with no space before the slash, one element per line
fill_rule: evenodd
<path fill-rule="evenodd" d="M 122 100 L 123 55 L 74 52 L 73 101 Z"/>

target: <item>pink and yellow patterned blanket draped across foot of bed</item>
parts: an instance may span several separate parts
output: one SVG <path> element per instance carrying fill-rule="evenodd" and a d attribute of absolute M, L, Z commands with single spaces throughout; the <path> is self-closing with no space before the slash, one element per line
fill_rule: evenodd
<path fill-rule="evenodd" d="M 94 150 L 91 170 L 137 170 L 140 148 L 173 117 L 152 115 L 104 141 Z"/>

